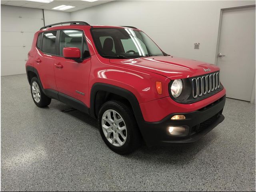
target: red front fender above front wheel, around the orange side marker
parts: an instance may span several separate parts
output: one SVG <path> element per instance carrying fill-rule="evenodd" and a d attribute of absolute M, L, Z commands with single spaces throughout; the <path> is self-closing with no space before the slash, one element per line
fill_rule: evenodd
<path fill-rule="evenodd" d="M 95 83 L 104 83 L 123 88 L 132 92 L 139 103 L 169 96 L 169 78 L 132 67 L 112 64 L 109 62 L 109 59 L 99 57 L 96 54 L 91 58 L 92 64 L 94 62 L 101 62 L 97 64 L 97 68 L 94 68 L 94 65 L 92 65 L 89 87 L 92 87 Z M 162 94 L 157 93 L 156 81 L 162 82 Z"/>

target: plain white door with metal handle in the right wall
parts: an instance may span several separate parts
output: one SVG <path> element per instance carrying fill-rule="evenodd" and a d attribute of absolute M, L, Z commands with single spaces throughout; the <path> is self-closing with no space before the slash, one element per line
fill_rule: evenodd
<path fill-rule="evenodd" d="M 222 11 L 217 54 L 226 96 L 250 101 L 255 76 L 255 6 Z"/>

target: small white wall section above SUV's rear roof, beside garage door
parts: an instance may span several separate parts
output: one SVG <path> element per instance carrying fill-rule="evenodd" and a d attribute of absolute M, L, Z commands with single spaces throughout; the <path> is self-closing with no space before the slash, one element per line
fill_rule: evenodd
<path fill-rule="evenodd" d="M 44 10 L 45 25 L 70 21 L 70 12 Z"/>

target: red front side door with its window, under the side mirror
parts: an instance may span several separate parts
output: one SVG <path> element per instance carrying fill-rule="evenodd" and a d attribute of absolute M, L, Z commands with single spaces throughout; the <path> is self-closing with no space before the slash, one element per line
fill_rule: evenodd
<path fill-rule="evenodd" d="M 87 106 L 88 103 L 88 80 L 91 68 L 88 46 L 84 38 L 84 32 L 80 30 L 61 30 L 59 34 L 59 57 L 54 61 L 54 73 L 58 92 L 80 100 Z M 77 47 L 81 51 L 83 62 L 63 57 L 64 47 Z"/>

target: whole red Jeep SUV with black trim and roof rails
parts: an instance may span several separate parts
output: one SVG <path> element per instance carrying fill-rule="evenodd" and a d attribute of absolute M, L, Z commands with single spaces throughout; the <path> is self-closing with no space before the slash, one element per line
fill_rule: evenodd
<path fill-rule="evenodd" d="M 119 154 L 142 140 L 194 142 L 224 120 L 220 69 L 170 56 L 132 26 L 44 26 L 26 72 L 38 107 L 56 99 L 97 118 L 102 139 Z"/>

